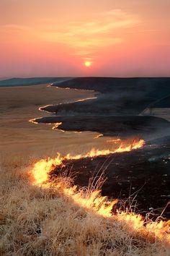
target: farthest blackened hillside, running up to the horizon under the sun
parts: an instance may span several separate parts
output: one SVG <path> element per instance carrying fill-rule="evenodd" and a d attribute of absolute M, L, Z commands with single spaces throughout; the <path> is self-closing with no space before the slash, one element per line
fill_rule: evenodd
<path fill-rule="evenodd" d="M 95 90 L 97 99 L 42 108 L 58 115 L 138 115 L 170 95 L 170 78 L 79 77 L 54 83 L 60 88 Z M 168 101 L 168 100 L 167 100 Z M 164 101 L 160 101 L 160 107 Z"/>

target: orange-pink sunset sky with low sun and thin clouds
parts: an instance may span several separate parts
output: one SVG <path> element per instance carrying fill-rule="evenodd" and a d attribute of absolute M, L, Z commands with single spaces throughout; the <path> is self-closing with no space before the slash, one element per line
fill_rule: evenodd
<path fill-rule="evenodd" d="M 170 76 L 169 0 L 0 0 L 0 78 Z"/>

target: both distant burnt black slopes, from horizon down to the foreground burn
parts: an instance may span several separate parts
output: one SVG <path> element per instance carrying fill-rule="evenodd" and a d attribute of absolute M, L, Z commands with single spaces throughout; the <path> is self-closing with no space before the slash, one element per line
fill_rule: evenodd
<path fill-rule="evenodd" d="M 53 86 L 95 90 L 97 98 L 42 107 L 53 116 L 37 119 L 37 122 L 62 122 L 59 129 L 66 131 L 94 131 L 120 137 L 138 135 L 151 139 L 150 135 L 160 137 L 162 132 L 170 135 L 169 121 L 156 116 L 139 116 L 146 108 L 170 106 L 168 77 L 78 77 L 54 82 Z"/>

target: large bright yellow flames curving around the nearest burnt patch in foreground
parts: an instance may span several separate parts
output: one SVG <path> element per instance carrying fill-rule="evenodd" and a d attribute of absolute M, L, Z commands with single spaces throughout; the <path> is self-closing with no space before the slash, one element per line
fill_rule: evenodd
<path fill-rule="evenodd" d="M 130 145 L 120 145 L 120 148 L 117 148 L 114 151 L 110 150 L 94 150 L 85 155 L 66 155 L 62 157 L 58 154 L 57 158 L 47 158 L 42 159 L 35 163 L 31 170 L 33 176 L 33 184 L 50 188 L 52 185 L 55 189 L 59 189 L 65 197 L 68 197 L 69 200 L 72 200 L 76 205 L 79 205 L 81 208 L 90 210 L 91 212 L 102 216 L 104 218 L 110 218 L 112 221 L 119 221 L 122 225 L 125 224 L 129 231 L 138 232 L 140 236 L 145 236 L 146 238 L 159 239 L 164 238 L 164 242 L 170 243 L 170 223 L 167 221 L 160 222 L 148 222 L 146 223 L 142 216 L 135 213 L 120 212 L 117 209 L 117 213 L 112 213 L 112 208 L 116 207 L 117 200 L 108 200 L 107 197 L 102 197 L 100 191 L 94 190 L 89 192 L 89 190 L 84 191 L 82 189 L 77 189 L 76 186 L 69 187 L 64 182 L 58 182 L 54 184 L 49 180 L 50 171 L 53 171 L 53 168 L 56 166 L 64 166 L 64 161 L 66 160 L 76 160 L 81 158 L 94 158 L 99 155 L 108 155 L 110 153 L 120 153 L 128 152 L 130 150 L 135 150 L 142 148 L 145 145 L 144 140 L 134 141 Z"/>

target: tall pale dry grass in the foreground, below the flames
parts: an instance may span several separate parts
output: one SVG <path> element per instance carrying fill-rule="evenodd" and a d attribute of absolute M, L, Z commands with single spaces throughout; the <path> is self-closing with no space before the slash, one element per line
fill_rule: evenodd
<path fill-rule="evenodd" d="M 165 244 L 79 208 L 60 189 L 32 186 L 30 163 L 1 159 L 0 255 L 170 255 Z"/>

